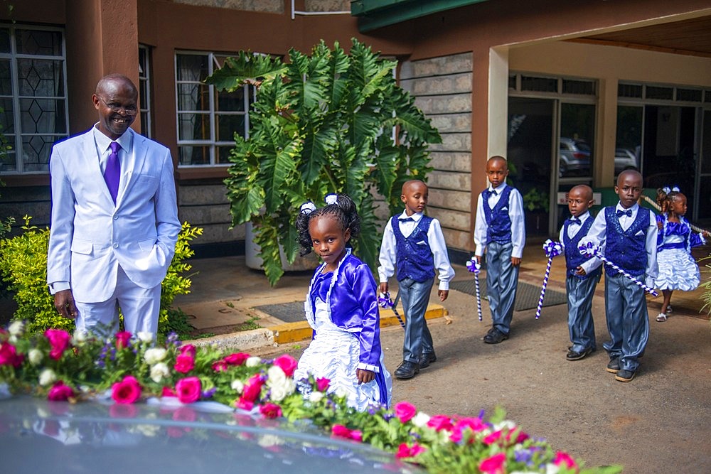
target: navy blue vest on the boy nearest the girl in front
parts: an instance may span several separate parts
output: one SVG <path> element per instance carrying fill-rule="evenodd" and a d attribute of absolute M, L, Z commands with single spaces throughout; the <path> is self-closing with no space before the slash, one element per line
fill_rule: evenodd
<path fill-rule="evenodd" d="M 434 257 L 429 249 L 427 231 L 432 217 L 422 216 L 417 222 L 417 227 L 412 234 L 405 237 L 400 232 L 400 215 L 392 216 L 390 225 L 395 234 L 395 247 L 397 249 L 397 281 L 411 278 L 415 281 L 427 281 L 434 278 Z M 417 242 L 423 242 L 417 244 Z"/>

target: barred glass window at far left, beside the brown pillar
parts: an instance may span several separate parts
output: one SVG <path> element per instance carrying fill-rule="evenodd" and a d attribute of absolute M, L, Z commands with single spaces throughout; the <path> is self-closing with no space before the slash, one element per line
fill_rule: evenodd
<path fill-rule="evenodd" d="M 0 173 L 47 173 L 68 136 L 66 58 L 59 28 L 0 26 Z"/>

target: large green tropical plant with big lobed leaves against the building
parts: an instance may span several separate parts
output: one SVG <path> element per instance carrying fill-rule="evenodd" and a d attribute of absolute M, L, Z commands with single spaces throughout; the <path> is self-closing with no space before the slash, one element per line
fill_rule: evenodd
<path fill-rule="evenodd" d="M 395 212 L 402 183 L 431 169 L 427 146 L 441 138 L 395 82 L 395 66 L 353 39 L 350 54 L 321 41 L 310 56 L 289 50 L 288 61 L 241 51 L 208 77 L 219 90 L 257 90 L 250 136 L 235 134 L 225 184 L 232 225 L 252 222 L 272 285 L 284 273 L 279 245 L 289 263 L 299 251 L 294 218 L 306 200 L 353 198 L 363 231 L 354 246 L 374 269 L 375 196 Z"/>

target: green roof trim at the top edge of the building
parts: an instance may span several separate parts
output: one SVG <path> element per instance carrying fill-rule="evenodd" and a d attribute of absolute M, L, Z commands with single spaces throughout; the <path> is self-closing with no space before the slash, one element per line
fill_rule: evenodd
<path fill-rule="evenodd" d="M 383 26 L 395 25 L 488 0 L 353 0 L 351 15 L 358 17 L 358 31 L 368 31 Z"/>

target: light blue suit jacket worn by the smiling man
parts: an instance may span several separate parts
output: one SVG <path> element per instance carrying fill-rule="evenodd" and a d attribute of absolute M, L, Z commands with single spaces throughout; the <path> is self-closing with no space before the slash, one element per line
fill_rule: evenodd
<path fill-rule="evenodd" d="M 181 230 L 169 149 L 132 129 L 126 133 L 133 145 L 122 161 L 115 205 L 91 129 L 55 144 L 50 156 L 47 282 L 69 281 L 84 303 L 111 297 L 119 265 L 141 288 L 160 284 Z"/>

